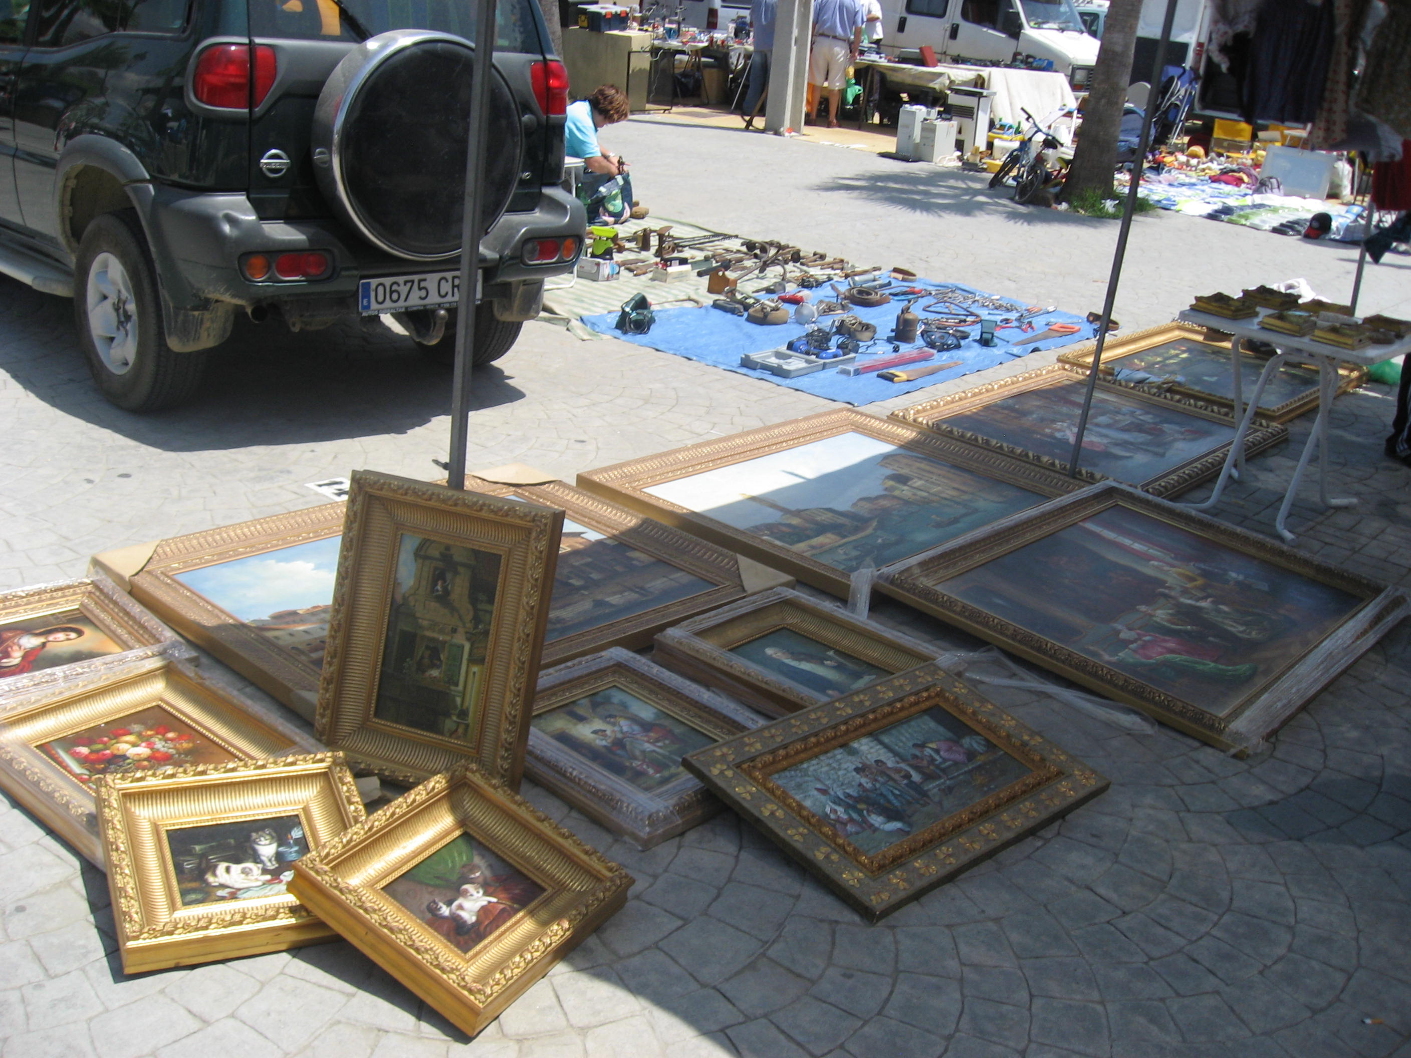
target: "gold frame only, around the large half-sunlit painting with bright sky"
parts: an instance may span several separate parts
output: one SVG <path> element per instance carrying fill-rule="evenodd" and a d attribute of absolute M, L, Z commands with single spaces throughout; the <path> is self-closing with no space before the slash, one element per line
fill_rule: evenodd
<path fill-rule="evenodd" d="M 880 419 L 854 409 L 840 409 L 756 430 L 745 430 L 718 440 L 689 444 L 601 470 L 590 470 L 579 474 L 577 484 L 588 492 L 614 499 L 632 511 L 641 511 L 649 518 L 686 529 L 722 547 L 729 547 L 789 573 L 806 584 L 847 598 L 849 577 L 842 570 L 765 537 L 735 529 L 708 515 L 659 499 L 646 491 L 652 485 L 666 481 L 745 463 L 842 433 L 861 433 L 865 437 L 895 444 L 909 453 L 1030 490 L 1043 498 L 1065 495 L 1098 480 L 1096 475 L 1079 475 L 1075 481 L 1067 474 L 1016 460 L 999 451 L 954 442 L 919 426 Z"/>

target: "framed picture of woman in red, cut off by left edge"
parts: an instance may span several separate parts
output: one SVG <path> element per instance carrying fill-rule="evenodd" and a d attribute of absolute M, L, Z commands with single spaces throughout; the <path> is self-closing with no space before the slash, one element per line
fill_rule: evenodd
<path fill-rule="evenodd" d="M 196 652 L 102 574 L 0 592 L 0 707 L 157 656 Z"/>

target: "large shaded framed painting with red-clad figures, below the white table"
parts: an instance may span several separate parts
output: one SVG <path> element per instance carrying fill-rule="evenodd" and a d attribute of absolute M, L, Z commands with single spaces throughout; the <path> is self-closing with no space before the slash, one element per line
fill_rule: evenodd
<path fill-rule="evenodd" d="M 1394 588 L 1118 484 L 880 576 L 917 609 L 1235 752 L 1408 612 Z"/>

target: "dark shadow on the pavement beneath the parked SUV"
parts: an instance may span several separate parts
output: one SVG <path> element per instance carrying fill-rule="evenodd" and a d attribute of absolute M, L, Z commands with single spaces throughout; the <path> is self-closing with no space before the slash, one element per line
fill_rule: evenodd
<path fill-rule="evenodd" d="M 133 415 L 93 385 L 72 302 L 0 276 L 0 371 L 85 422 L 165 451 L 206 451 L 408 433 L 450 412 L 449 367 L 381 323 L 293 333 L 238 316 L 183 408 Z M 498 367 L 476 372 L 476 408 L 523 392 Z"/>

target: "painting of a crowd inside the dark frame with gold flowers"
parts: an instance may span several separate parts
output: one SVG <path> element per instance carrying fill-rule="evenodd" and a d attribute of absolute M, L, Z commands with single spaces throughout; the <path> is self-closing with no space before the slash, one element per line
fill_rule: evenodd
<path fill-rule="evenodd" d="M 930 708 L 792 765 L 769 782 L 876 856 L 1029 774 L 968 724 Z"/>

